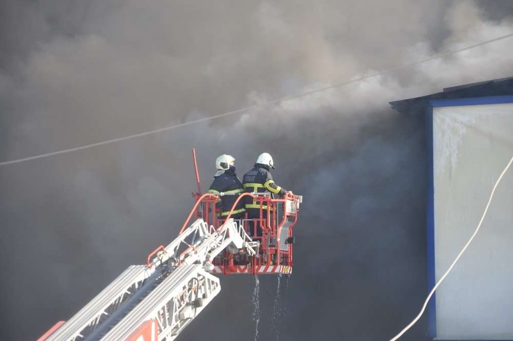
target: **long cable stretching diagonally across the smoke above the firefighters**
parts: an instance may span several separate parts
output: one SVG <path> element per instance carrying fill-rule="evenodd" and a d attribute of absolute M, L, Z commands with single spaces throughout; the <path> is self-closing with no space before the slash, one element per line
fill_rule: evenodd
<path fill-rule="evenodd" d="M 88 144 L 88 145 L 81 146 L 81 147 L 76 147 L 76 148 L 71 148 L 71 149 L 64 149 L 64 150 L 59 150 L 59 151 L 53 151 L 52 153 L 35 155 L 35 156 L 28 157 L 28 158 L 23 158 L 23 159 L 17 159 L 17 160 L 12 160 L 12 161 L 5 161 L 5 162 L 1 162 L 0 166 L 12 164 L 12 163 L 19 163 L 19 162 L 29 161 L 29 160 L 41 159 L 41 158 L 45 158 L 45 157 L 53 156 L 53 155 L 71 153 L 72 151 L 88 149 L 88 148 L 92 148 L 92 147 L 96 147 L 96 146 L 101 146 L 101 145 L 104 145 L 104 144 L 109 144 L 109 143 L 114 143 L 114 142 L 120 142 L 120 141 L 132 139 L 132 138 L 136 138 L 136 137 L 156 134 L 157 132 L 171 130 L 171 129 L 187 126 L 187 125 L 190 125 L 190 124 L 194 124 L 194 123 L 199 123 L 199 122 L 208 121 L 208 120 L 214 120 L 214 119 L 218 119 L 218 118 L 225 117 L 225 116 L 228 116 L 228 115 L 234 115 L 235 113 L 240 113 L 240 112 L 243 112 L 243 111 L 246 111 L 246 110 L 267 106 L 269 104 L 274 104 L 274 103 L 279 103 L 279 102 L 283 102 L 283 101 L 288 101 L 288 100 L 292 100 L 292 99 L 303 97 L 303 96 L 308 96 L 309 94 L 312 94 L 312 93 L 315 93 L 315 92 L 325 91 L 325 90 L 328 90 L 328 89 L 344 86 L 344 85 L 347 85 L 347 84 L 350 84 L 350 83 L 360 82 L 360 81 L 366 80 L 368 78 L 376 77 L 377 75 L 380 75 L 380 74 L 383 74 L 383 73 L 387 73 L 387 72 L 391 72 L 391 71 L 396 71 L 396 70 L 399 70 L 399 69 L 402 69 L 402 68 L 406 68 L 406 67 L 409 67 L 409 66 L 425 63 L 425 62 L 428 62 L 428 61 L 433 60 L 433 59 L 442 58 L 442 57 L 447 56 L 447 55 L 456 54 L 458 52 L 469 50 L 469 49 L 472 49 L 472 48 L 475 48 L 475 47 L 478 47 L 478 46 L 481 46 L 481 45 L 485 45 L 485 44 L 488 44 L 488 43 L 491 43 L 491 42 L 495 42 L 495 41 L 498 41 L 498 40 L 501 40 L 501 39 L 505 39 L 505 38 L 510 37 L 510 36 L 513 36 L 513 33 L 510 33 L 510 34 L 507 34 L 507 35 L 503 35 L 503 36 L 500 36 L 500 37 L 497 37 L 495 39 L 491 39 L 491 40 L 488 40 L 488 41 L 485 41 L 485 42 L 481 42 L 479 44 L 467 46 L 467 47 L 461 48 L 459 50 L 437 54 L 437 55 L 431 56 L 429 58 L 426 58 L 426 59 L 423 59 L 423 60 L 420 60 L 420 61 L 417 61 L 417 62 L 413 62 L 413 63 L 410 63 L 410 64 L 394 67 L 394 68 L 391 68 L 391 69 L 386 69 L 386 70 L 379 71 L 379 72 L 376 72 L 376 73 L 371 73 L 371 74 L 368 74 L 368 75 L 366 75 L 364 77 L 360 77 L 360 78 L 353 79 L 353 80 L 350 80 L 350 81 L 346 81 L 346 82 L 343 82 L 343 83 L 339 83 L 339 84 L 335 84 L 335 85 L 330 85 L 330 86 L 327 86 L 327 87 L 324 87 L 324 88 L 320 88 L 320 89 L 316 89 L 316 90 L 312 90 L 312 91 L 308 91 L 308 92 L 303 92 L 303 93 L 296 94 L 296 95 L 290 96 L 290 97 L 280 98 L 278 100 L 273 100 L 273 101 L 269 101 L 269 102 L 265 102 L 265 103 L 255 104 L 255 105 L 252 105 L 252 106 L 249 106 L 249 107 L 245 107 L 245 108 L 242 108 L 242 109 L 237 109 L 237 110 L 221 113 L 220 115 L 205 117 L 205 118 L 202 118 L 202 119 L 193 120 L 193 121 L 189 121 L 189 122 L 185 122 L 185 123 L 180 123 L 180 124 L 168 126 L 168 127 L 165 127 L 165 128 L 160 128 L 160 129 L 155 129 L 155 130 L 151 130 L 151 131 L 141 132 L 140 134 L 125 136 L 125 137 L 122 137 L 122 138 L 112 139 L 112 140 L 103 141 L 103 142 L 97 142 L 97 143 Z"/>

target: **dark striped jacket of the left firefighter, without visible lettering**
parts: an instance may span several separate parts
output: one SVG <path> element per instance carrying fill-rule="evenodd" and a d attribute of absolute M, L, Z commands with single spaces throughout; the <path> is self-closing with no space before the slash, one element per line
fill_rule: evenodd
<path fill-rule="evenodd" d="M 219 193 L 243 193 L 244 188 L 241 180 L 235 174 L 235 167 L 231 166 L 224 173 L 214 176 L 214 181 L 210 185 L 208 193 L 219 194 Z M 221 196 L 221 217 L 226 217 L 230 213 L 231 207 L 235 203 L 235 200 L 239 198 L 238 195 L 226 195 Z M 232 216 L 242 214 L 246 210 L 244 209 L 244 200 L 241 199 L 235 209 L 232 212 Z"/>

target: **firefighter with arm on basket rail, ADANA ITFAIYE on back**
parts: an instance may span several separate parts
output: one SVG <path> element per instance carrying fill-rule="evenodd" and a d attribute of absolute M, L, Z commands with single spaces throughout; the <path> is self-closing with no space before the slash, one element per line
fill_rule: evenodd
<path fill-rule="evenodd" d="M 270 173 L 271 168 L 274 169 L 274 162 L 272 161 L 272 157 L 269 153 L 260 154 L 253 168 L 244 174 L 244 177 L 242 178 L 244 191 L 247 193 L 268 192 L 271 194 L 271 198 L 273 195 L 292 195 L 292 192 L 287 192 L 284 188 L 274 183 Z M 267 217 L 267 209 L 268 207 L 266 205 L 262 207 L 262 215 L 264 217 Z M 246 212 L 248 214 L 248 219 L 260 218 L 260 203 L 247 196 Z M 253 234 L 254 224 L 252 220 L 249 220 L 249 227 L 249 233 Z M 262 228 L 260 224 L 257 224 L 257 236 L 262 236 Z"/>

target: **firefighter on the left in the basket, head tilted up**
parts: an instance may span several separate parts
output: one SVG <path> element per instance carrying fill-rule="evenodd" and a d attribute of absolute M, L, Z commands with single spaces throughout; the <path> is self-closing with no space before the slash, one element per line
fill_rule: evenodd
<path fill-rule="evenodd" d="M 208 190 L 208 193 L 213 194 L 229 194 L 221 196 L 221 201 L 216 203 L 216 207 L 221 208 L 219 218 L 222 219 L 225 219 L 230 213 L 235 200 L 239 198 L 238 194 L 244 192 L 242 182 L 235 174 L 235 166 L 233 165 L 234 161 L 235 158 L 227 154 L 223 154 L 215 160 L 215 168 L 218 169 L 218 173 L 214 175 L 214 181 Z M 231 218 L 241 219 L 243 218 L 245 211 L 244 200 L 241 199 L 234 208 Z"/>

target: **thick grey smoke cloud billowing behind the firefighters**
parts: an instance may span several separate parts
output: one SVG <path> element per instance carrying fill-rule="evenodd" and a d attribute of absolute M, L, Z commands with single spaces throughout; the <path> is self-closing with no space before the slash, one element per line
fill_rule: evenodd
<path fill-rule="evenodd" d="M 0 161 L 265 103 L 513 32 L 494 2 L 4 1 Z M 513 73 L 506 39 L 161 134 L 0 167 L 2 335 L 35 339 L 167 244 L 214 160 L 304 196 L 279 338 L 382 340 L 427 295 L 425 128 L 388 102 Z M 182 339 L 253 339 L 251 277 Z M 285 283 L 285 284 L 284 284 Z M 261 276 L 261 339 L 277 278 Z M 285 290 L 286 288 L 286 290 Z M 286 292 L 286 294 L 285 294 Z M 27 321 L 29 323 L 27 324 Z M 424 316 L 403 339 L 424 339 Z"/>

